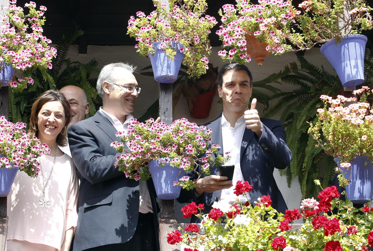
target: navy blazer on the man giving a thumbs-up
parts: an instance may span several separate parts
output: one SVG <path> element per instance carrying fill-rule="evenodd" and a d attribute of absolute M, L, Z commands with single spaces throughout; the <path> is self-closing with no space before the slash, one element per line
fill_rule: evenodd
<path fill-rule="evenodd" d="M 285 200 L 278 189 L 275 178 L 273 177 L 274 168 L 286 168 L 291 159 L 292 153 L 286 144 L 285 129 L 280 121 L 261 118 L 263 123 L 263 132 L 260 138 L 251 131 L 245 128 L 242 137 L 240 164 L 244 181 L 248 181 L 253 186 L 253 190 L 249 192 L 251 204 L 258 201 L 262 195 L 268 195 L 272 199 L 272 207 L 279 212 L 285 213 L 287 209 Z M 212 129 L 211 141 L 214 144 L 220 145 L 217 154 L 223 154 L 223 138 L 222 138 L 222 116 L 211 121 L 205 126 Z M 238 154 L 231 152 L 231 154 Z M 219 175 L 220 167 L 211 167 L 212 175 Z M 203 176 L 201 176 L 203 177 Z M 235 184 L 233 184 L 235 185 Z M 204 203 L 204 213 L 209 213 L 211 205 L 220 200 L 222 190 L 217 190 L 213 193 L 204 192 L 198 198 L 195 198 L 195 190 L 186 191 L 182 189 L 181 196 L 178 201 L 181 203 L 190 202 Z M 192 222 L 198 222 L 200 219 L 192 217 Z"/>

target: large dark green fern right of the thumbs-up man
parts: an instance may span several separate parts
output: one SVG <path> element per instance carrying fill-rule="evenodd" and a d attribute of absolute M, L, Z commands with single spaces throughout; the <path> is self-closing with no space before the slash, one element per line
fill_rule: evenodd
<path fill-rule="evenodd" d="M 279 72 L 289 72 L 281 80 L 297 89 L 270 97 L 269 100 L 277 102 L 264 112 L 264 117 L 281 112 L 280 120 L 286 128 L 286 141 L 293 153 L 293 159 L 286 169 L 288 186 L 298 176 L 303 198 L 310 198 L 319 192 L 313 180 L 319 179 L 325 186 L 330 184 L 335 165 L 322 149 L 315 148 L 317 142 L 307 134 L 308 122 L 316 119 L 317 108 L 323 106 L 319 97 L 322 94 L 338 94 L 341 81 L 323 67 L 320 69 L 309 63 L 301 54 L 298 53 L 297 58 L 300 65 L 292 62 Z"/>

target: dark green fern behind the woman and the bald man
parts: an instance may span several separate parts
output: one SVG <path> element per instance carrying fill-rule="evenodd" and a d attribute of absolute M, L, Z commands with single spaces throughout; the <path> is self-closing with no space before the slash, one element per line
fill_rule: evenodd
<path fill-rule="evenodd" d="M 97 75 L 98 62 L 92 59 L 88 63 L 78 61 L 71 62 L 67 57 L 73 41 L 76 40 L 83 31 L 78 27 L 62 36 L 57 44 L 57 57 L 53 59 L 52 69 L 37 69 L 32 73 L 34 84 L 20 93 L 9 93 L 9 120 L 13 122 L 28 123 L 31 114 L 31 106 L 34 100 L 43 92 L 49 89 L 61 89 L 67 85 L 75 85 L 82 88 L 87 94 L 90 109 L 87 117 L 91 117 L 97 111 L 101 103 L 95 90 L 96 79 L 91 75 Z"/>

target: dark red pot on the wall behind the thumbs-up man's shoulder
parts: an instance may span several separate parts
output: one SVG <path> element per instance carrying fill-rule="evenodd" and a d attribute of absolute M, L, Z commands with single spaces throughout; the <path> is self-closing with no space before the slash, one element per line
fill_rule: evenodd
<path fill-rule="evenodd" d="M 210 115 L 212 100 L 215 96 L 216 89 L 213 88 L 209 92 L 202 93 L 196 96 L 198 101 L 191 100 L 193 109 L 190 111 L 192 118 L 207 118 Z"/>

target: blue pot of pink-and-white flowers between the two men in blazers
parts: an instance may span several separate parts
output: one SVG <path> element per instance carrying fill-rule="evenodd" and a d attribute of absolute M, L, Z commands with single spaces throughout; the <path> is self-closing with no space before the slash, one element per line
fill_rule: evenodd
<path fill-rule="evenodd" d="M 185 171 L 195 172 L 199 178 L 201 174 L 196 170 L 200 165 L 202 173 L 209 175 L 210 165 L 221 166 L 227 161 L 223 155 L 213 158 L 220 146 L 211 144 L 210 133 L 210 129 L 198 127 L 185 118 L 170 125 L 155 123 L 152 118 L 145 123 L 132 119 L 128 131 L 116 134 L 122 141 L 112 143 L 122 153 L 114 165 L 129 179 L 152 177 L 158 198 L 175 199 L 181 187 L 187 190 L 195 187 Z"/>

